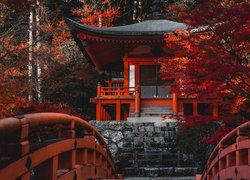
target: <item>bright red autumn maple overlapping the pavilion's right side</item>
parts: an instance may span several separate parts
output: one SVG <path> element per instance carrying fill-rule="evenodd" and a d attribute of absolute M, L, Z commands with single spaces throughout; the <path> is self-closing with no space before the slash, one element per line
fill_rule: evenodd
<path fill-rule="evenodd" d="M 205 122 L 192 117 L 184 124 L 222 122 L 215 136 L 204 139 L 206 142 L 218 142 L 249 115 L 249 8 L 244 0 L 205 1 L 179 14 L 187 30 L 166 36 L 171 55 L 162 60 L 162 76 L 174 82 L 172 91 L 221 100 L 218 119 Z"/>

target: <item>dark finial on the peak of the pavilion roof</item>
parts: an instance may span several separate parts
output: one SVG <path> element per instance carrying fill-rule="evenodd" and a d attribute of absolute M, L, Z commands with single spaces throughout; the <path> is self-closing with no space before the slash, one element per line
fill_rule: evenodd
<path fill-rule="evenodd" d="M 163 11 L 163 4 L 161 0 L 154 0 L 151 5 L 151 14 L 149 15 L 148 19 L 150 20 L 159 20 L 165 19 L 162 15 Z"/>

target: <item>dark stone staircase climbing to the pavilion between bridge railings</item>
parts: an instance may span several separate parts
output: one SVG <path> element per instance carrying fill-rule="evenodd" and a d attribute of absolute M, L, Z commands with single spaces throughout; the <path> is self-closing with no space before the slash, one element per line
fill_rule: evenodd
<path fill-rule="evenodd" d="M 138 129 L 137 129 L 137 125 Z M 133 137 L 125 141 L 120 156 L 122 172 L 126 176 L 166 177 L 194 175 L 196 168 L 192 160 L 177 150 L 175 145 L 175 123 L 166 123 L 165 127 L 157 127 L 155 123 L 140 123 L 133 127 Z M 126 158 L 125 158 L 126 157 Z"/>

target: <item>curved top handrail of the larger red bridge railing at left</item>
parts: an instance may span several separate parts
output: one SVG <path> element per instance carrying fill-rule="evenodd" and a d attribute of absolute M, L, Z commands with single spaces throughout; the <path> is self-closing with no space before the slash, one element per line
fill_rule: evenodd
<path fill-rule="evenodd" d="M 101 134 L 87 121 L 67 115 L 62 113 L 34 113 L 34 114 L 26 114 L 26 115 L 19 115 L 15 117 L 5 118 L 0 120 L 0 138 L 6 137 L 9 134 L 19 134 L 19 142 L 22 143 L 21 146 L 25 146 L 20 154 L 19 158 L 24 158 L 28 154 L 30 154 L 30 142 L 27 140 L 30 128 L 41 126 L 41 125 L 53 125 L 53 124 L 62 124 L 66 125 L 66 131 L 68 131 L 67 139 L 75 139 L 77 143 L 77 137 L 75 134 L 75 128 L 80 128 L 84 132 L 84 136 L 91 136 L 94 137 L 97 142 L 99 143 L 102 148 L 104 148 L 105 152 L 107 153 L 107 162 L 110 164 L 112 168 L 112 172 L 115 172 L 113 158 L 111 152 L 109 151 L 105 140 L 101 136 Z M 28 145 L 27 145 L 28 144 Z M 101 152 L 98 150 L 99 145 L 97 144 L 97 152 Z M 22 149 L 22 147 L 21 147 Z M 28 149 L 28 150 L 27 150 Z M 20 160 L 20 159 L 19 159 Z M 0 173 L 1 174 L 1 173 Z M 118 178 L 118 175 L 116 175 Z"/>

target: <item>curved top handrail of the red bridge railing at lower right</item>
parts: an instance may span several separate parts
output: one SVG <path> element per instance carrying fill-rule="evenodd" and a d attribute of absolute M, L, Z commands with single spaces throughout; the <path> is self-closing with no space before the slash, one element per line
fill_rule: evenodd
<path fill-rule="evenodd" d="M 201 179 L 210 179 L 208 178 L 209 173 L 212 171 L 212 168 L 215 166 L 215 164 L 219 163 L 219 160 L 221 160 L 221 152 L 223 150 L 226 150 L 227 148 L 231 148 L 230 151 L 226 151 L 223 153 L 223 157 L 227 156 L 229 153 L 237 151 L 238 144 L 246 139 L 249 139 L 249 137 L 244 137 L 244 130 L 250 129 L 250 121 L 243 123 L 242 125 L 238 126 L 237 128 L 230 131 L 227 135 L 225 135 L 220 142 L 216 145 L 214 150 L 212 151 L 211 155 L 209 156 L 207 160 L 207 164 L 205 166 L 205 170 L 201 176 Z M 248 135 L 249 136 L 249 135 Z M 250 142 L 250 141 L 249 141 Z M 249 153 L 250 153 L 250 144 L 249 144 Z M 250 156 L 250 154 L 248 154 Z M 249 157 L 248 157 L 249 158 Z M 249 158 L 250 159 L 250 158 Z M 250 165 L 250 162 L 248 162 Z M 218 165 L 218 164 L 217 164 Z M 226 169 L 226 168 L 224 168 Z M 218 170 L 219 172 L 219 170 Z M 216 173 L 218 174 L 218 173 Z"/>

